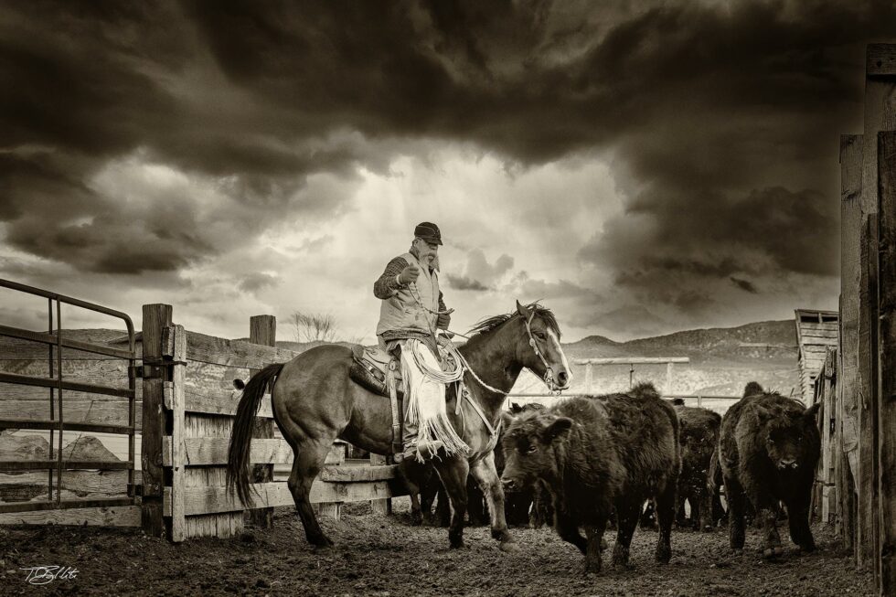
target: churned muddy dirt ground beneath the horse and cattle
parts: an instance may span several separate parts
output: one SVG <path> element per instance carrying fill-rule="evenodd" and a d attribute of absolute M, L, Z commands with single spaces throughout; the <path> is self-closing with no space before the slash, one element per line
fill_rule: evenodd
<path fill-rule="evenodd" d="M 868 573 L 854 570 L 832 533 L 813 528 L 819 551 L 765 562 L 751 530 L 739 556 L 727 532 L 675 532 L 667 566 L 653 560 L 656 532 L 638 529 L 634 570 L 582 573 L 579 551 L 550 528 L 514 528 L 520 549 L 497 548 L 487 528 L 466 528 L 464 549 L 448 549 L 444 528 L 412 527 L 407 498 L 396 514 L 347 505 L 343 517 L 323 519 L 336 547 L 311 549 L 290 508 L 278 508 L 274 528 L 248 529 L 231 539 L 193 539 L 181 545 L 146 538 L 139 530 L 0 528 L 0 594 L 95 595 L 871 595 Z M 786 525 L 786 523 L 784 523 Z M 613 537 L 608 534 L 612 546 Z M 77 569 L 76 578 L 27 584 L 37 565 Z"/>

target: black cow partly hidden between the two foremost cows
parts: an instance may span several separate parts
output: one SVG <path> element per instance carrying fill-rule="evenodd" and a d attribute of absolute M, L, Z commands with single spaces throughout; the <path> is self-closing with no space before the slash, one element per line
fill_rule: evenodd
<path fill-rule="evenodd" d="M 681 474 L 678 477 L 678 524 L 685 526 L 685 500 L 690 504 L 690 525 L 705 531 L 714 528 L 709 491 L 709 464 L 719 444 L 721 415 L 709 409 L 676 406 Z"/>

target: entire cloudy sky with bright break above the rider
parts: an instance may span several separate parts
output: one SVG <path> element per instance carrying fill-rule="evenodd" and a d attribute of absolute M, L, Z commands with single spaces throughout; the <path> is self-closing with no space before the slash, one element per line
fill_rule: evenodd
<path fill-rule="evenodd" d="M 0 277 L 138 325 L 167 303 L 293 339 L 301 311 L 368 341 L 422 220 L 458 330 L 516 299 L 564 340 L 836 309 L 838 137 L 896 23 L 851 0 L 0 6 Z M 45 322 L 0 291 L 0 323 Z"/>

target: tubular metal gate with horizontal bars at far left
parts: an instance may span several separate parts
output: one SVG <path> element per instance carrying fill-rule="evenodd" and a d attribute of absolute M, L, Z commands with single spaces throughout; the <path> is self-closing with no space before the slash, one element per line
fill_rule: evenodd
<path fill-rule="evenodd" d="M 63 296 L 57 293 L 51 293 L 39 288 L 33 288 L 25 284 L 10 282 L 0 279 L 0 287 L 7 288 L 21 293 L 28 293 L 35 296 L 43 297 L 48 302 L 48 331 L 36 332 L 7 325 L 0 325 L 0 336 L 7 336 L 19 340 L 27 340 L 47 345 L 47 363 L 48 377 L 37 377 L 19 375 L 0 371 L 0 382 L 5 384 L 16 384 L 22 386 L 31 386 L 48 389 L 48 417 L 46 419 L 35 418 L 10 418 L 0 419 L 0 431 L 7 429 L 27 429 L 27 430 L 44 430 L 49 432 L 49 453 L 48 460 L 0 460 L 0 473 L 26 472 L 26 471 L 48 471 L 47 486 L 48 492 L 46 500 L 32 500 L 24 502 L 13 502 L 0 504 L 0 517 L 9 513 L 24 513 L 40 510 L 65 510 L 70 508 L 101 508 L 106 511 L 110 506 L 135 506 L 136 497 L 133 491 L 134 487 L 134 436 L 135 436 L 135 383 L 134 383 L 134 359 L 136 358 L 134 346 L 133 323 L 127 314 L 114 311 L 99 304 L 87 303 L 79 299 Z M 91 342 L 82 342 L 73 338 L 66 338 L 62 325 L 62 304 L 72 305 L 87 309 L 96 313 L 110 315 L 112 317 L 123 320 L 127 328 L 128 349 L 116 348 L 113 346 L 105 346 L 94 344 Z M 54 317 L 55 314 L 55 317 Z M 128 377 L 128 387 L 115 388 L 107 385 L 97 385 L 80 383 L 64 378 L 63 375 L 63 348 L 84 351 L 87 353 L 102 355 L 104 357 L 113 357 L 126 361 L 126 371 Z M 94 394 L 102 394 L 106 396 L 120 397 L 127 399 L 127 424 L 95 424 L 90 421 L 71 421 L 65 420 L 65 392 L 91 392 Z M 0 396 L 2 400 L 2 396 Z M 127 435 L 128 437 L 128 460 L 127 462 L 105 462 L 91 460 L 72 460 L 63 458 L 63 432 L 99 432 L 99 433 L 116 433 Z M 126 497 L 109 497 L 109 498 L 89 498 L 89 499 L 63 499 L 63 475 L 66 471 L 89 469 L 89 470 L 127 470 L 127 496 Z M 54 498 L 55 490 L 55 498 Z M 9 517 L 3 517 L 7 522 Z M 109 521 L 109 518 L 103 518 Z M 129 517 L 131 522 L 121 522 L 130 526 L 133 524 L 133 517 Z M 22 521 L 26 521 L 24 518 Z M 112 522 L 114 524 L 114 522 Z M 139 513 L 136 515 L 136 524 L 139 525 Z"/>

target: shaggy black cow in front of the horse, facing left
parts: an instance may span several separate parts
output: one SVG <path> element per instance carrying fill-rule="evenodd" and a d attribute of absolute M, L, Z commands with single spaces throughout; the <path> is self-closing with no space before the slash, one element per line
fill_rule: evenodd
<path fill-rule="evenodd" d="M 599 399 L 576 398 L 519 415 L 504 439 L 507 467 L 501 478 L 511 489 L 543 482 L 560 538 L 579 548 L 585 570 L 595 572 L 601 570 L 601 539 L 613 509 L 613 565 L 627 567 L 641 507 L 655 497 L 656 560 L 667 563 L 680 467 L 675 410 L 649 384 Z"/>

